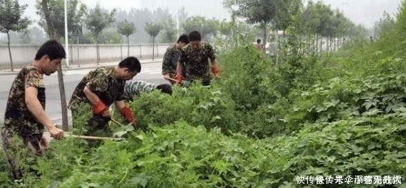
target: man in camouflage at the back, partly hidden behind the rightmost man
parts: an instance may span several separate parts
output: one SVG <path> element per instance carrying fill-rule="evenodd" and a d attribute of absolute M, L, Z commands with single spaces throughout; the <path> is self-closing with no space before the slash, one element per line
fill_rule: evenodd
<path fill-rule="evenodd" d="M 186 34 L 182 34 L 179 36 L 179 39 L 177 39 L 177 43 L 166 49 L 164 54 L 164 61 L 162 61 L 162 75 L 164 75 L 164 79 L 168 80 L 172 85 L 176 83 L 171 79 L 175 79 L 176 65 L 180 56 L 180 49 L 182 49 L 182 47 L 188 43 L 188 36 Z M 183 76 L 186 76 L 186 71 L 182 72 L 182 74 Z"/>

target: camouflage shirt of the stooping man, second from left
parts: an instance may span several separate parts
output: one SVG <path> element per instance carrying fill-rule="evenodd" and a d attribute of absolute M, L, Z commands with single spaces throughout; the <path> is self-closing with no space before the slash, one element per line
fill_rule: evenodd
<path fill-rule="evenodd" d="M 85 86 L 95 93 L 106 106 L 110 106 L 114 101 L 122 101 L 124 100 L 125 84 L 126 81 L 114 78 L 114 66 L 98 67 L 86 74 L 77 85 L 70 98 L 68 108 L 75 109 L 81 102 L 90 104 L 84 94 Z"/>

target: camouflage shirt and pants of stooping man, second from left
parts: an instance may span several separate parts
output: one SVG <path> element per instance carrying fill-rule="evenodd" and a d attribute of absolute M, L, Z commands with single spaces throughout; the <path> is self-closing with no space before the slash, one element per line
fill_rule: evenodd
<path fill-rule="evenodd" d="M 81 115 L 79 109 L 83 105 L 92 104 L 84 94 L 84 87 L 87 86 L 89 90 L 95 93 L 107 107 L 113 104 L 114 101 L 124 100 L 124 85 L 126 81 L 119 81 L 114 78 L 114 66 L 99 67 L 90 71 L 77 85 L 70 98 L 68 108 L 72 111 L 72 124 L 73 127 L 81 127 L 82 125 L 75 125 L 75 120 Z M 91 109 L 88 109 L 91 110 Z M 108 119 L 103 118 L 99 114 L 93 116 L 86 121 L 85 133 L 88 136 L 111 136 L 113 134 L 108 129 Z"/>

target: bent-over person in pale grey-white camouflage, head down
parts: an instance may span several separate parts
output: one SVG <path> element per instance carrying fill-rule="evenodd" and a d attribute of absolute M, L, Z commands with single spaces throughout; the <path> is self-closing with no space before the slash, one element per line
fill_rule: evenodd
<path fill-rule="evenodd" d="M 140 96 L 142 93 L 149 93 L 153 90 L 160 90 L 162 93 L 172 94 L 172 86 L 169 84 L 155 84 L 146 81 L 127 81 L 124 86 L 124 98 L 127 101 L 133 101 L 134 96 Z"/>

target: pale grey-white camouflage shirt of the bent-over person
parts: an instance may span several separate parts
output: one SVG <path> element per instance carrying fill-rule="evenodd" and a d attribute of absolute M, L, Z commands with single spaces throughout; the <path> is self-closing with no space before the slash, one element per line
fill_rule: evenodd
<path fill-rule="evenodd" d="M 140 96 L 143 92 L 149 93 L 157 88 L 155 83 L 146 81 L 127 81 L 124 87 L 124 98 L 133 100 L 134 96 Z"/>

